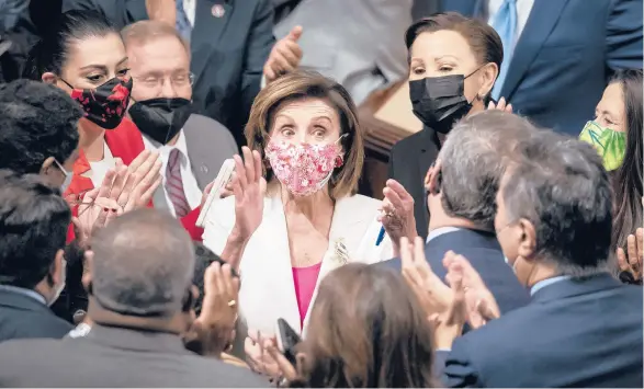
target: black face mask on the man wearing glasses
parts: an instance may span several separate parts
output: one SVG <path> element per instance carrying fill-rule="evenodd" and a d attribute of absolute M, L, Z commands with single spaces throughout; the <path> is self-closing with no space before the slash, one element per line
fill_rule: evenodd
<path fill-rule="evenodd" d="M 190 100 L 159 98 L 137 101 L 129 107 L 129 117 L 143 134 L 166 145 L 179 134 L 193 112 Z"/>

